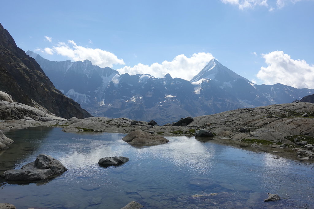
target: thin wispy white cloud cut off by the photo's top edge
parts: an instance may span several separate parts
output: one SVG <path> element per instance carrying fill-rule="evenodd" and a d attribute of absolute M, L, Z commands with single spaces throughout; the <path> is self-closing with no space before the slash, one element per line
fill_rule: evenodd
<path fill-rule="evenodd" d="M 302 0 L 220 0 L 225 4 L 232 4 L 243 10 L 245 8 L 254 8 L 256 6 L 265 6 L 268 11 L 273 11 L 275 8 L 281 9 L 287 3 L 297 3 Z"/>

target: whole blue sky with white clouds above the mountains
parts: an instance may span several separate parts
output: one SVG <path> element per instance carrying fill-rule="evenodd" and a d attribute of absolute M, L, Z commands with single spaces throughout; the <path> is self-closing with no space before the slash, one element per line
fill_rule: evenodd
<path fill-rule="evenodd" d="M 314 89 L 314 0 L 3 1 L 24 51 L 120 74 L 192 79 L 211 60 L 256 84 Z"/>

